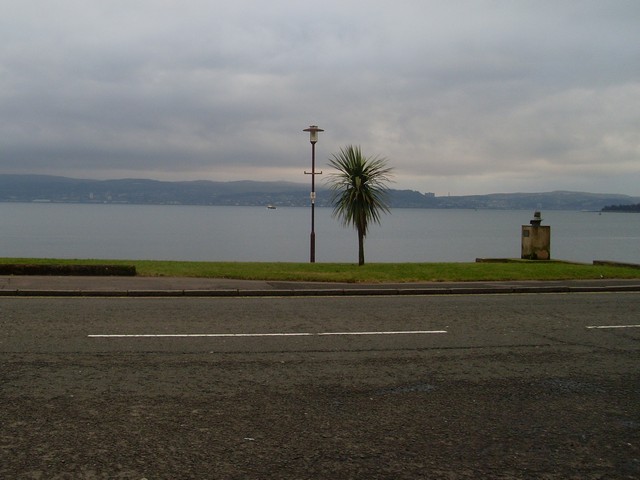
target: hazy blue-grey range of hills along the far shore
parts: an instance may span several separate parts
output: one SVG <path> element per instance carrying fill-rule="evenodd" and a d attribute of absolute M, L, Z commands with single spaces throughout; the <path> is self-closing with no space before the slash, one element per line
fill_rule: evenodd
<path fill-rule="evenodd" d="M 159 205 L 309 205 L 310 185 L 291 182 L 164 182 L 145 179 L 83 180 L 49 175 L 0 175 L 0 202 L 131 203 Z M 582 192 L 494 193 L 437 197 L 390 190 L 395 208 L 601 210 L 630 205 L 640 197 Z M 330 192 L 317 188 L 316 205 L 329 206 Z"/>

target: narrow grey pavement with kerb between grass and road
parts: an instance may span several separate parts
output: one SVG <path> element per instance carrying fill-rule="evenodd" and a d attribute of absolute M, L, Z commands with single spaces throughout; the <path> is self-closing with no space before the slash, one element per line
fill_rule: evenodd
<path fill-rule="evenodd" d="M 640 291 L 638 280 L 324 283 L 184 277 L 0 276 L 0 295 L 300 296 Z"/>

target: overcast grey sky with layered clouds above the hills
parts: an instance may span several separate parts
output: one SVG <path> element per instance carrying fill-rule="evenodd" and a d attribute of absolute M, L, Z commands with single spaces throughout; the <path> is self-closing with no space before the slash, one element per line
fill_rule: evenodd
<path fill-rule="evenodd" d="M 640 195 L 638 0 L 4 0 L 0 173 Z"/>

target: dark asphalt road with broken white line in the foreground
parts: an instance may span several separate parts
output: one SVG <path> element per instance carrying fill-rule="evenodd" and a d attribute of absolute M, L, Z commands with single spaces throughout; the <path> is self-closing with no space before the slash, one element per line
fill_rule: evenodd
<path fill-rule="evenodd" d="M 0 478 L 640 478 L 639 324 L 638 293 L 3 297 Z"/>

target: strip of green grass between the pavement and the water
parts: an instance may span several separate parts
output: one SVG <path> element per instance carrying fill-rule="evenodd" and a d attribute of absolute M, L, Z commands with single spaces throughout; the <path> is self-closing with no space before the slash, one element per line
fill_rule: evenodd
<path fill-rule="evenodd" d="M 174 262 L 46 258 L 0 258 L 0 263 L 134 265 L 138 275 L 151 277 L 350 283 L 640 278 L 640 269 L 632 267 L 527 260 L 500 263 L 371 263 L 361 267 L 346 263 Z"/>

